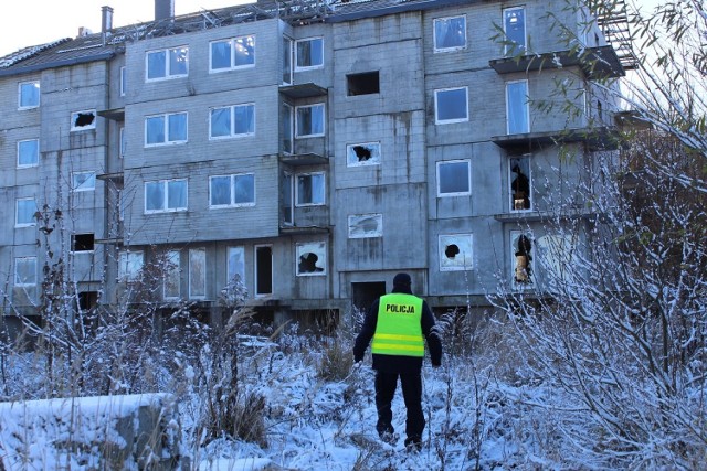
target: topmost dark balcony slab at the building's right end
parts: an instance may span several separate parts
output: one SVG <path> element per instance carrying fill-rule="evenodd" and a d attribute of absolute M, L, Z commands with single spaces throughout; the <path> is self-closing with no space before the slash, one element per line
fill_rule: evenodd
<path fill-rule="evenodd" d="M 488 61 L 488 65 L 498 74 L 579 66 L 589 79 L 616 78 L 626 75 L 621 60 L 612 46 L 494 58 Z"/>

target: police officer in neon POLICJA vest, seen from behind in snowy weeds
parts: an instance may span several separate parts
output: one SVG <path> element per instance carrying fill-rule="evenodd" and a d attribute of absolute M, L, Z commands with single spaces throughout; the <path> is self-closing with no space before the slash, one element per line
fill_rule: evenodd
<path fill-rule="evenodd" d="M 434 329 L 434 315 L 428 303 L 412 295 L 408 274 L 393 278 L 390 295 L 371 304 L 361 332 L 354 345 L 354 360 L 360 362 L 368 344 L 373 340 L 373 370 L 376 370 L 376 430 L 383 441 L 394 440 L 391 403 L 395 395 L 398 377 L 402 385 L 408 420 L 405 447 L 419 450 L 425 421 L 422 413 L 422 358 L 424 339 L 432 358 L 432 366 L 442 364 L 442 342 Z"/>

